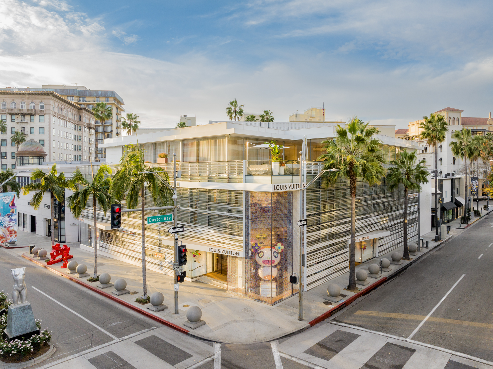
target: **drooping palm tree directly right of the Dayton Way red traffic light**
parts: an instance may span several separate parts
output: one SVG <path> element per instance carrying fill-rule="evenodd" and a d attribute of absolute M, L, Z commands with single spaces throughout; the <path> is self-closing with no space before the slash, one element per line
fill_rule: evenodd
<path fill-rule="evenodd" d="M 170 189 L 158 178 L 158 175 L 168 185 L 170 178 L 168 172 L 163 168 L 151 168 L 144 163 L 145 150 L 137 145 L 130 144 L 125 146 L 123 157 L 118 165 L 109 193 L 112 197 L 112 202 L 119 202 L 125 196 L 127 208 L 136 208 L 139 205 L 139 197 L 141 198 L 141 220 L 142 220 L 142 285 L 143 297 L 147 298 L 147 281 L 145 276 L 145 188 L 150 193 L 152 200 L 156 206 L 167 206 L 171 199 Z"/>

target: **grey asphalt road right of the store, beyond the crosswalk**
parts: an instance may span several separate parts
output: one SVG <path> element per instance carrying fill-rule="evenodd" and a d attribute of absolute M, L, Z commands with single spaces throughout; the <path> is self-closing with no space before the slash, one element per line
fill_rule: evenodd
<path fill-rule="evenodd" d="M 493 361 L 492 227 L 488 215 L 334 320 Z"/>

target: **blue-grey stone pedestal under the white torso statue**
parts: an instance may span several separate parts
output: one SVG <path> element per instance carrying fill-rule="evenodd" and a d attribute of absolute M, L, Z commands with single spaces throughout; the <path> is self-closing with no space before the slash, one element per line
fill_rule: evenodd
<path fill-rule="evenodd" d="M 7 314 L 7 328 L 3 330 L 3 333 L 9 341 L 39 335 L 33 308 L 29 302 L 9 305 Z"/>

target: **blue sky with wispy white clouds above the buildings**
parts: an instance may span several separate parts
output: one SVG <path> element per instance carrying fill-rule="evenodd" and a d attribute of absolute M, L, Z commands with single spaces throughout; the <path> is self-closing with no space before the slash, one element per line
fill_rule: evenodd
<path fill-rule="evenodd" d="M 143 126 L 325 104 L 405 128 L 492 110 L 491 1 L 0 0 L 0 86 L 112 89 Z"/>

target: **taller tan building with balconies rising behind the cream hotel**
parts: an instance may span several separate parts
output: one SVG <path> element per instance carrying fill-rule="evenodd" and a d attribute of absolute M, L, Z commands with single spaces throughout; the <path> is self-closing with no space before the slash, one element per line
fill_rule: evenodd
<path fill-rule="evenodd" d="M 122 134 L 121 120 L 125 111 L 123 99 L 115 91 L 109 90 L 89 90 L 85 86 L 67 85 L 42 85 L 42 91 L 53 91 L 69 101 L 73 101 L 80 107 L 92 109 L 96 102 L 106 102 L 106 106 L 111 107 L 113 116 L 104 124 L 96 121 L 96 143 L 103 144 L 106 138 L 119 137 Z M 106 150 L 98 148 L 96 156 L 98 160 L 106 158 Z"/>

